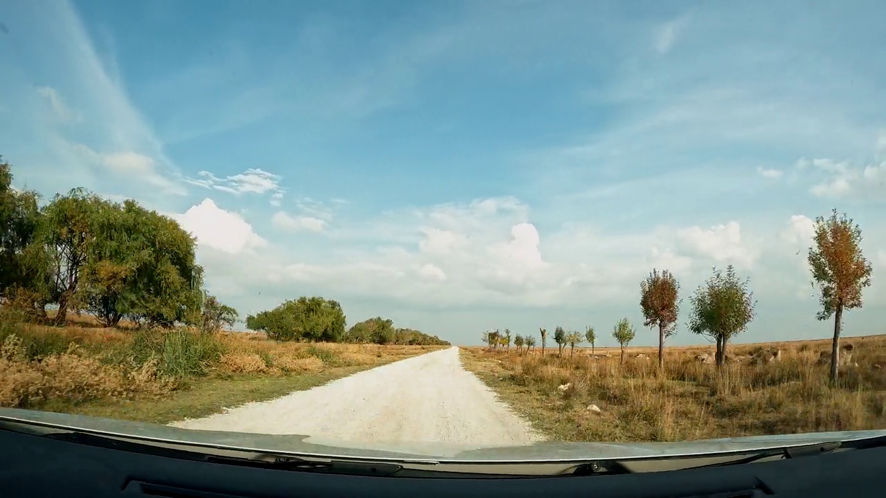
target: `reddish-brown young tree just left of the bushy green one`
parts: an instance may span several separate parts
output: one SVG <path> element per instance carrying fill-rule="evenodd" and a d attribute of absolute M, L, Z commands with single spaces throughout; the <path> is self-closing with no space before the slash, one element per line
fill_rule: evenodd
<path fill-rule="evenodd" d="M 664 368 L 664 338 L 671 337 L 677 324 L 677 315 L 680 313 L 680 301 L 677 294 L 680 292 L 680 284 L 668 270 L 658 273 L 653 268 L 640 283 L 640 307 L 643 310 L 643 325 L 658 327 L 658 368 Z"/>

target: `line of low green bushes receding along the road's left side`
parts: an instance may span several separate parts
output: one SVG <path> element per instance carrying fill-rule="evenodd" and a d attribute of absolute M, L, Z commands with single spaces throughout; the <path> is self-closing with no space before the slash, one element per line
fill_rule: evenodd
<path fill-rule="evenodd" d="M 336 300 L 301 297 L 285 300 L 274 309 L 246 316 L 246 328 L 268 338 L 301 342 L 348 342 L 448 346 L 449 343 L 413 329 L 394 327 L 392 320 L 369 318 L 346 329 L 346 316 Z"/>

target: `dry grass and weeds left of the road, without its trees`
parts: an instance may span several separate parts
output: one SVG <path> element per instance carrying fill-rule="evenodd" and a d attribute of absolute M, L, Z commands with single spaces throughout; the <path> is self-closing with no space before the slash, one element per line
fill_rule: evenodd
<path fill-rule="evenodd" d="M 167 423 L 322 385 L 441 346 L 277 343 L 260 333 L 0 320 L 0 406 Z"/>

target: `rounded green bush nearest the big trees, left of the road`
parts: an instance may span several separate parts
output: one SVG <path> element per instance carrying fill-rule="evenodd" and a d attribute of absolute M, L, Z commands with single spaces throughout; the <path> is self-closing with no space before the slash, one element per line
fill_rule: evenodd
<path fill-rule="evenodd" d="M 345 313 L 336 300 L 300 297 L 278 307 L 246 316 L 246 327 L 276 340 L 340 342 L 345 337 Z"/>

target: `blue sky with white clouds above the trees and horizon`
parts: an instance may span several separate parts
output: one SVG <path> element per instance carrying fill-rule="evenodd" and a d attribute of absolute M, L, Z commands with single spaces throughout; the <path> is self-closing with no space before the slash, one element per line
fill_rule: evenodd
<path fill-rule="evenodd" d="M 740 342 L 827 338 L 806 253 L 832 208 L 886 318 L 886 4 L 512 0 L 0 3 L 17 188 L 135 198 L 242 317 L 342 303 L 455 344 L 597 330 L 640 282 L 750 279 Z M 242 324 L 240 325 L 242 328 Z"/>

